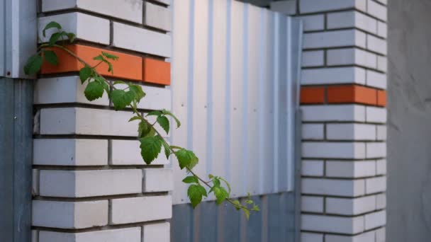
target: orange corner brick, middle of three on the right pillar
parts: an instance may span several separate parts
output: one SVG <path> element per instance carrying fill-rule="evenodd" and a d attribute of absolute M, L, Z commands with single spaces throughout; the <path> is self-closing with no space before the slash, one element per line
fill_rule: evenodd
<path fill-rule="evenodd" d="M 376 89 L 357 85 L 329 86 L 328 103 L 361 103 L 376 105 Z"/>

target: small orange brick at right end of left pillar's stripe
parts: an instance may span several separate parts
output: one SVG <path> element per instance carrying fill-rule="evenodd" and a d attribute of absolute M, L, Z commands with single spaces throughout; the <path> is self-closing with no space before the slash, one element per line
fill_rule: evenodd
<path fill-rule="evenodd" d="M 171 84 L 171 64 L 158 59 L 143 59 L 142 81 L 170 85 Z"/>

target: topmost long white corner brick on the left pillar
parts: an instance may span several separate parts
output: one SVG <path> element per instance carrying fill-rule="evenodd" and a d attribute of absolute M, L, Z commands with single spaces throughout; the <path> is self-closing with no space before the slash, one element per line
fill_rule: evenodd
<path fill-rule="evenodd" d="M 126 21 L 142 23 L 141 0 L 43 0 L 42 11 L 57 11 L 79 8 L 105 16 L 121 18 Z M 94 29 L 93 29 L 94 30 Z"/>

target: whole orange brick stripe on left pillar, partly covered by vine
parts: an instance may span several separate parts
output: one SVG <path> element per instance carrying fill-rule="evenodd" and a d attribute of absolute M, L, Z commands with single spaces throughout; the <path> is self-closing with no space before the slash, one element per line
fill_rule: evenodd
<path fill-rule="evenodd" d="M 104 64 L 96 67 L 96 70 L 103 76 L 162 85 L 171 84 L 171 64 L 169 62 L 85 45 L 69 45 L 67 49 L 93 66 L 99 63 L 98 60 L 94 60 L 93 58 L 101 54 L 102 51 L 118 56 L 118 60 L 112 62 L 113 74 L 108 71 L 108 67 Z M 79 71 L 79 69 L 84 67 L 81 62 L 72 57 L 69 53 L 58 48 L 53 48 L 52 50 L 57 54 L 59 64 L 55 66 L 45 62 L 40 70 L 41 74 L 59 74 Z"/>

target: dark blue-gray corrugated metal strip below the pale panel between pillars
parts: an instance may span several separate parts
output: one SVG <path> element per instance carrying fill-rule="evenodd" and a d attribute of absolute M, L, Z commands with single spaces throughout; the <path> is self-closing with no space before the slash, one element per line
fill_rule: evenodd
<path fill-rule="evenodd" d="M 217 0 L 218 1 L 218 0 Z M 267 242 L 295 241 L 293 192 L 253 196 L 261 211 L 246 220 L 230 204 L 203 202 L 174 205 L 171 221 L 173 242 Z"/>

